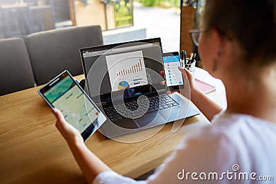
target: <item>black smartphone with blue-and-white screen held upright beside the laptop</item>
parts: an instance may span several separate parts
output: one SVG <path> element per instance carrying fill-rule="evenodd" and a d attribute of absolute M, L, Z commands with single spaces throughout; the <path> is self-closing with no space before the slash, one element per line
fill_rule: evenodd
<path fill-rule="evenodd" d="M 166 85 L 170 90 L 184 88 L 182 73 L 178 67 L 181 66 L 179 52 L 167 52 L 162 54 Z"/>

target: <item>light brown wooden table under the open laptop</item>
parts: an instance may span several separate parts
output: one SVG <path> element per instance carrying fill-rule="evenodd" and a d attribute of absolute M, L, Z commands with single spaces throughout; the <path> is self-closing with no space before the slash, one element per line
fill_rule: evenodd
<path fill-rule="evenodd" d="M 204 70 L 197 69 L 195 74 L 216 85 L 217 90 L 209 96 L 219 103 L 225 101 L 220 81 Z M 0 96 L 0 183 L 86 183 L 55 127 L 55 116 L 37 93 L 39 88 Z M 113 141 L 96 132 L 86 145 L 112 170 L 136 178 L 160 165 L 186 130 L 208 123 L 200 114 L 186 119 L 175 133 L 171 132 L 172 123 L 168 123 L 150 139 L 138 143 Z M 141 136 L 155 128 L 126 136 Z"/>

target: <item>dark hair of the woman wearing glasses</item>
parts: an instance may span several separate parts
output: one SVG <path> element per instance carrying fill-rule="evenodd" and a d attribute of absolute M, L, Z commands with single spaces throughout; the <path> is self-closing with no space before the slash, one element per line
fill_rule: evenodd
<path fill-rule="evenodd" d="M 206 0 L 203 23 L 206 30 L 235 39 L 244 62 L 263 66 L 276 61 L 276 0 Z"/>

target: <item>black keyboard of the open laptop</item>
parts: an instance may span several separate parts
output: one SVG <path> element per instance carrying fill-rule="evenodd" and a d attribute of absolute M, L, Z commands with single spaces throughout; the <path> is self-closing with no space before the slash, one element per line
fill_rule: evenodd
<path fill-rule="evenodd" d="M 150 101 L 149 105 L 147 104 L 148 101 Z M 179 105 L 179 103 L 170 98 L 168 94 L 149 97 L 148 101 L 139 101 L 140 106 L 138 105 L 137 101 L 130 101 L 124 105 L 116 105 L 116 107 L 104 107 L 103 110 L 106 112 L 106 115 L 111 121 L 118 121 L 126 118 L 137 118 L 141 112 L 144 114 L 146 110 L 146 113 L 149 113 Z"/>

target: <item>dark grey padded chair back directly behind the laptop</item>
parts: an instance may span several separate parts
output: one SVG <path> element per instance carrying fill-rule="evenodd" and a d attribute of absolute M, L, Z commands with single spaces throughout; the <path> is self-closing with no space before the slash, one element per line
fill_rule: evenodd
<path fill-rule="evenodd" d="M 41 85 L 63 70 L 83 74 L 79 49 L 102 45 L 103 37 L 99 25 L 89 25 L 37 32 L 25 41 L 34 79 Z"/>

